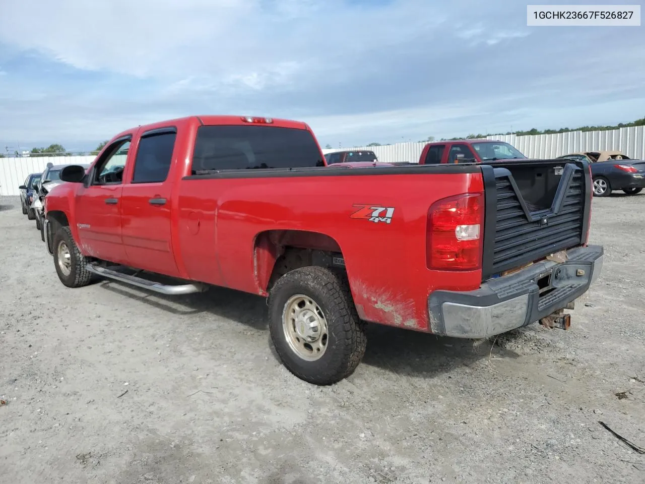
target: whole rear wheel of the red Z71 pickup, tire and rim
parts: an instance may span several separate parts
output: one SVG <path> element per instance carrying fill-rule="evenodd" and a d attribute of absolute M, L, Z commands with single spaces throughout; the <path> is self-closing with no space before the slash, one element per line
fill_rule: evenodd
<path fill-rule="evenodd" d="M 275 283 L 268 306 L 275 350 L 298 378 L 332 385 L 361 362 L 364 323 L 344 276 L 315 266 L 292 270 Z"/>

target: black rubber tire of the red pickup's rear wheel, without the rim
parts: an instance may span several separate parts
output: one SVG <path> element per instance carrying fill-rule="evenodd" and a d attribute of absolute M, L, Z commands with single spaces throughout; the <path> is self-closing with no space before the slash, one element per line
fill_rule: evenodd
<path fill-rule="evenodd" d="M 283 327 L 283 311 L 291 297 L 311 297 L 326 321 L 327 338 L 319 359 L 309 361 L 293 350 Z M 303 267 L 284 274 L 268 299 L 269 331 L 283 365 L 315 385 L 332 385 L 350 376 L 361 362 L 367 339 L 345 276 L 323 267 Z M 295 327 L 295 319 L 294 319 Z M 305 340 L 303 339 L 303 342 Z"/>

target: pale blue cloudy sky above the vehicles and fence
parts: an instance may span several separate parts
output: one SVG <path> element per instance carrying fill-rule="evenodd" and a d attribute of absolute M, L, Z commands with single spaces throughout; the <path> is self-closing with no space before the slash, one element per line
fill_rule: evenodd
<path fill-rule="evenodd" d="M 0 152 L 192 114 L 297 119 L 333 147 L 645 116 L 644 26 L 528 27 L 517 0 L 0 0 L 0 18 Z"/>

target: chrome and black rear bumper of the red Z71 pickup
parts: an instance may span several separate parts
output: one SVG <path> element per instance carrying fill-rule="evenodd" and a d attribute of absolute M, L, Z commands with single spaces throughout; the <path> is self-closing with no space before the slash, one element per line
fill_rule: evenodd
<path fill-rule="evenodd" d="M 433 333 L 453 338 L 488 338 L 521 328 L 582 296 L 600 276 L 600 245 L 576 247 L 567 261 L 541 261 L 482 283 L 469 292 L 437 290 L 428 297 Z M 552 289 L 540 296 L 538 282 Z"/>

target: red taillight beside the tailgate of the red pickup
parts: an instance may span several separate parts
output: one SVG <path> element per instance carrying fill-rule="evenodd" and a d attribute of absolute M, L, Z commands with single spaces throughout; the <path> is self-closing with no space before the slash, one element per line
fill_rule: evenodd
<path fill-rule="evenodd" d="M 436 201 L 428 210 L 426 265 L 435 270 L 481 267 L 484 194 Z"/>

